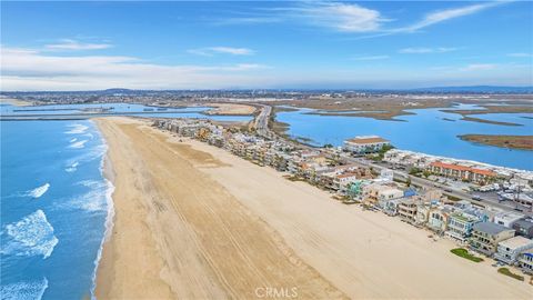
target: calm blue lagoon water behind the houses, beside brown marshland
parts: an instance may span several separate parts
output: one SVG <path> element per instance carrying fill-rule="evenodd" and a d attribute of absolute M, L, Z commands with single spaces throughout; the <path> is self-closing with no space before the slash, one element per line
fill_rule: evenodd
<path fill-rule="evenodd" d="M 461 104 L 455 109 L 475 109 Z M 276 114 L 276 120 L 289 123 L 288 133 L 306 138 L 311 143 L 341 146 L 355 136 L 381 136 L 399 149 L 434 156 L 475 160 L 522 170 L 533 170 L 533 151 L 505 149 L 463 141 L 460 134 L 533 134 L 532 113 L 490 113 L 475 118 L 517 123 L 501 126 L 460 120 L 461 116 L 442 109 L 410 110 L 414 114 L 396 117 L 396 121 L 361 117 L 308 114 L 311 109 L 286 111 Z"/>

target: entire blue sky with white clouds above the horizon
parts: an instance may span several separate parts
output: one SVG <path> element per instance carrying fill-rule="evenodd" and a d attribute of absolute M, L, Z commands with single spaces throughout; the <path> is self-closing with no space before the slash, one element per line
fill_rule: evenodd
<path fill-rule="evenodd" d="M 1 2 L 2 90 L 532 86 L 530 1 Z"/>

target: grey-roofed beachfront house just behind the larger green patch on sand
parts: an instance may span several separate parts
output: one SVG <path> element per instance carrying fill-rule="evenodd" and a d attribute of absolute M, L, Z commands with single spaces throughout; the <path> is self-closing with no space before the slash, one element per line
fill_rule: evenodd
<path fill-rule="evenodd" d="M 496 252 L 499 242 L 512 237 L 514 229 L 493 222 L 480 222 L 474 224 L 470 246 L 473 250 L 490 257 Z"/>

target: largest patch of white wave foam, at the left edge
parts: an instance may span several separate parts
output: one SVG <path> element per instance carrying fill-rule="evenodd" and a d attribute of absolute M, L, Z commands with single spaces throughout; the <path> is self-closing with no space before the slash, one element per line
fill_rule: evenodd
<path fill-rule="evenodd" d="M 6 233 L 9 238 L 2 241 L 1 249 L 4 254 L 42 256 L 47 259 L 59 242 L 53 234 L 53 227 L 48 222 L 42 210 L 37 210 L 22 220 L 6 226 Z"/>

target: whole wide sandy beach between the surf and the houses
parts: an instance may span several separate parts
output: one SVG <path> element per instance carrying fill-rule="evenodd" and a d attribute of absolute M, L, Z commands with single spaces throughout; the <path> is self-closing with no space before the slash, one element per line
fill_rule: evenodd
<path fill-rule="evenodd" d="M 533 296 L 489 262 L 451 254 L 449 240 L 268 167 L 143 121 L 97 123 L 115 174 L 99 299 L 272 298 L 266 288 L 300 299 Z"/>

